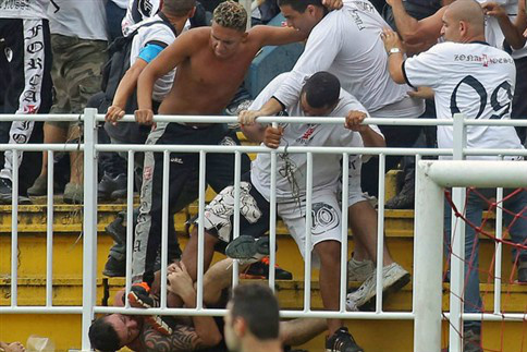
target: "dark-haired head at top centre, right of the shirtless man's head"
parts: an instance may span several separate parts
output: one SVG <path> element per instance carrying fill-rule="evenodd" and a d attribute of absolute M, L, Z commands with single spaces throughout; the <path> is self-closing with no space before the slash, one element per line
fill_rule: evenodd
<path fill-rule="evenodd" d="M 305 35 L 309 35 L 328 12 L 321 0 L 279 0 L 278 4 L 287 26 Z"/>

